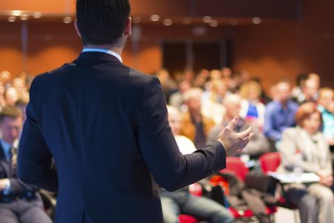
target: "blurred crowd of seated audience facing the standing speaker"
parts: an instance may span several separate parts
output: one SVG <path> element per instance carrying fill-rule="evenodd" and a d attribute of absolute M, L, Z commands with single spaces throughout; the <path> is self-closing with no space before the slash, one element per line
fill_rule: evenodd
<path fill-rule="evenodd" d="M 236 158 L 251 171 L 264 173 L 261 157 L 279 154 L 279 173 L 295 174 L 299 169 L 316 174 L 319 176 L 317 183 L 286 186 L 286 199 L 299 209 L 301 222 L 334 222 L 334 91 L 321 86 L 319 75 L 301 74 L 295 82 L 282 79 L 270 87 L 268 94 L 262 89 L 261 79 L 250 78 L 246 71 L 233 72 L 230 68 L 202 69 L 198 73 L 186 70 L 173 75 L 161 69 L 153 75 L 161 82 L 168 104 L 170 128 L 182 153 L 193 153 L 216 141 L 219 132 L 234 116 L 239 116 L 235 131 L 251 127 L 254 136 Z M 26 72 L 15 78 L 6 70 L 0 72 L 2 142 L 19 144 L 32 82 L 33 75 Z M 17 108 L 16 112 L 13 107 Z M 22 118 L 22 122 L 7 125 L 6 117 L 13 120 Z M 218 203 L 210 199 L 196 200 L 198 197 L 189 194 L 189 188 L 177 192 L 162 190 L 166 222 L 178 222 L 180 214 L 187 208 L 189 211 L 186 213 L 195 212 L 195 216 L 202 213 L 204 216 L 200 217 L 213 219 L 212 222 L 233 221 L 235 216 L 224 206 L 219 204 L 217 207 Z M 21 190 L 31 189 L 22 186 Z M 180 202 L 184 196 L 182 193 L 192 199 Z M 56 202 L 56 194 L 43 192 L 42 195 L 49 207 Z M 180 206 L 180 209 L 175 211 L 170 203 Z M 207 206 L 207 212 L 202 209 L 203 205 Z M 54 210 L 49 211 L 52 216 Z"/>

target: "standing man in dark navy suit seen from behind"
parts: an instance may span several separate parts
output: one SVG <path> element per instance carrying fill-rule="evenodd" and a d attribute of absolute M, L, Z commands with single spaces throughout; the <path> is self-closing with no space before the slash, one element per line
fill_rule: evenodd
<path fill-rule="evenodd" d="M 235 118 L 219 141 L 180 153 L 159 80 L 122 64 L 129 11 L 127 0 L 78 0 L 83 52 L 31 85 L 18 174 L 58 192 L 56 222 L 163 222 L 158 185 L 216 173 L 251 137 L 232 132 Z"/>

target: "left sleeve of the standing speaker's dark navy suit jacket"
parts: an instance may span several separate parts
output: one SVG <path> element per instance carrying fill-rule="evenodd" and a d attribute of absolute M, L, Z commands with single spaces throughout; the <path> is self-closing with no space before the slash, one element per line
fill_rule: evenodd
<path fill-rule="evenodd" d="M 56 192 L 58 190 L 56 167 L 45 139 L 40 132 L 33 109 L 34 87 L 33 83 L 30 93 L 31 100 L 26 107 L 26 121 L 19 143 L 17 174 L 26 184 Z"/>

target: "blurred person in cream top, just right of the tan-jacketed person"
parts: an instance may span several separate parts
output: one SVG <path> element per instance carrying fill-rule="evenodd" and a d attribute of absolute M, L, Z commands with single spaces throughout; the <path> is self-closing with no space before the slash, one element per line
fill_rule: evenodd
<path fill-rule="evenodd" d="M 225 107 L 222 102 L 228 94 L 228 85 L 223 79 L 212 81 L 211 91 L 206 91 L 202 95 L 202 114 L 212 118 L 215 124 L 221 123 L 225 115 Z"/>

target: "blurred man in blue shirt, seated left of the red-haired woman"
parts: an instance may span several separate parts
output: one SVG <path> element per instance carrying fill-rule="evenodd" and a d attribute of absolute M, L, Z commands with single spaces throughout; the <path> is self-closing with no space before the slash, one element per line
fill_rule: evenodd
<path fill-rule="evenodd" d="M 283 130 L 296 125 L 294 114 L 298 105 L 290 100 L 291 86 L 289 82 L 279 82 L 274 89 L 275 100 L 267 104 L 263 132 L 268 139 L 276 143 L 276 148 L 279 149 Z"/>

